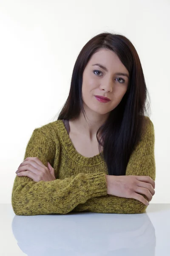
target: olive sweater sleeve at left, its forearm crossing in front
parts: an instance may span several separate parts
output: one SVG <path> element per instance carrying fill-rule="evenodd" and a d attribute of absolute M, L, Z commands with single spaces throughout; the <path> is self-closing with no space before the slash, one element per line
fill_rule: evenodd
<path fill-rule="evenodd" d="M 55 145 L 40 128 L 35 129 L 26 146 L 24 160 L 38 157 L 46 167 L 47 162 L 53 166 L 56 154 L 59 154 L 59 144 Z M 66 214 L 89 198 L 101 195 L 107 195 L 104 172 L 79 173 L 63 180 L 39 182 L 16 175 L 11 203 L 16 215 Z"/>

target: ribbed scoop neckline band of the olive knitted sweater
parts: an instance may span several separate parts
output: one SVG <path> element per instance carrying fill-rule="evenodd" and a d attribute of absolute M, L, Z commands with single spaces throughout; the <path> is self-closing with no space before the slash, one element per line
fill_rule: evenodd
<path fill-rule="evenodd" d="M 102 163 L 103 159 L 100 154 L 97 154 L 93 157 L 85 157 L 81 155 L 79 152 L 77 152 L 77 150 L 74 148 L 74 145 L 69 137 L 69 134 L 65 128 L 65 125 L 62 119 L 57 120 L 57 123 L 58 123 L 58 131 L 59 131 L 62 143 L 64 145 L 65 151 L 67 151 L 69 157 L 71 157 L 72 160 L 74 160 L 75 162 L 81 165 L 86 165 L 86 166 L 98 165 Z"/>

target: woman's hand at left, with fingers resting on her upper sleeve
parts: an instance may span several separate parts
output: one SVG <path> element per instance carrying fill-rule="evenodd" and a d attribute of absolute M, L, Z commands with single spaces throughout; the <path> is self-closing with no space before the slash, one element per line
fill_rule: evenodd
<path fill-rule="evenodd" d="M 48 168 L 40 161 L 38 157 L 27 157 L 18 167 L 17 176 L 27 176 L 34 181 L 56 180 L 54 168 L 47 163 Z"/>

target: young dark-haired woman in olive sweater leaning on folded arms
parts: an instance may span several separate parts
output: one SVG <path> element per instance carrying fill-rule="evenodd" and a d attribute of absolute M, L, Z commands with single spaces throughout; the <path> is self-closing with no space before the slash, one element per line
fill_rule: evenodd
<path fill-rule="evenodd" d="M 156 178 L 146 100 L 130 40 L 108 32 L 91 38 L 57 121 L 34 129 L 27 144 L 12 189 L 15 214 L 145 212 Z"/>

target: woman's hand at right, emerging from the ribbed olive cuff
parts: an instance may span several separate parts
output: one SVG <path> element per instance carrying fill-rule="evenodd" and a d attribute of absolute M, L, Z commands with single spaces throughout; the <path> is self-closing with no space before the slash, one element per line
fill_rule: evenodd
<path fill-rule="evenodd" d="M 150 176 L 106 175 L 107 193 L 123 198 L 134 198 L 148 205 L 155 194 L 155 181 Z M 139 194 L 138 194 L 139 193 Z M 146 195 L 148 201 L 140 194 Z"/>

